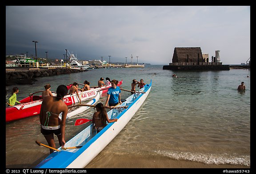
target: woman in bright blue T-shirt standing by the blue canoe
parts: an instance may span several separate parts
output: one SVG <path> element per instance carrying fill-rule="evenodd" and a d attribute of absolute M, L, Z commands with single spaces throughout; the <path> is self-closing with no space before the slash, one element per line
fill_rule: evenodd
<path fill-rule="evenodd" d="M 121 90 L 119 86 L 117 86 L 118 81 L 117 80 L 112 80 L 111 81 L 111 87 L 108 89 L 107 92 L 107 100 L 105 106 L 116 106 L 117 104 L 122 104 L 121 101 Z"/>

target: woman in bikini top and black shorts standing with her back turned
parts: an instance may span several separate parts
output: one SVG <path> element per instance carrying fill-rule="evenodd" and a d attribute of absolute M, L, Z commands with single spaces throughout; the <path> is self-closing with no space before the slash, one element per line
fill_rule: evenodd
<path fill-rule="evenodd" d="M 40 132 L 44 135 L 48 145 L 56 148 L 54 142 L 54 134 L 58 137 L 60 146 L 65 145 L 65 126 L 66 116 L 68 114 L 68 106 L 62 100 L 68 93 L 66 85 L 58 86 L 56 90 L 56 97 L 45 97 L 41 104 L 39 119 L 40 119 Z M 59 115 L 62 112 L 60 120 Z M 53 150 L 50 149 L 50 153 Z"/>

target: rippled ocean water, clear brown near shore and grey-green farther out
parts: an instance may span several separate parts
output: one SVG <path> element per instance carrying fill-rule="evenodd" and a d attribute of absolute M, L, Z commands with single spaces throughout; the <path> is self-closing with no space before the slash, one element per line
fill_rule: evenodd
<path fill-rule="evenodd" d="M 152 89 L 146 101 L 124 129 L 103 150 L 115 148 L 117 155 L 160 155 L 177 160 L 205 164 L 250 166 L 250 70 L 229 71 L 172 71 L 163 66 L 144 68 L 94 69 L 81 73 L 37 78 L 33 85 L 17 85 L 17 99 L 58 85 L 87 80 L 97 85 L 100 77 L 121 80 L 123 89 L 131 89 L 132 79 L 141 78 Z M 172 77 L 175 73 L 177 78 Z M 249 77 L 247 77 L 249 76 Z M 244 81 L 245 92 L 237 87 Z M 10 97 L 9 89 L 6 100 Z M 79 86 L 81 87 L 81 86 Z M 129 92 L 122 91 L 125 99 Z M 106 96 L 99 102 L 105 103 Z M 84 102 L 85 103 L 85 102 Z M 95 110 L 78 114 L 67 121 L 66 141 L 88 126 L 74 126 L 77 118 L 92 118 Z M 36 166 L 48 153 L 40 134 L 39 116 L 32 116 L 6 124 L 6 167 Z M 56 146 L 58 147 L 57 138 Z M 97 158 L 97 157 L 96 157 Z"/>

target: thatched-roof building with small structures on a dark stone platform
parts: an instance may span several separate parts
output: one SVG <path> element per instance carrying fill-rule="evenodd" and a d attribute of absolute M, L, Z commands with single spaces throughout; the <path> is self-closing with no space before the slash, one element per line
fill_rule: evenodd
<path fill-rule="evenodd" d="M 176 47 L 172 63 L 163 66 L 163 70 L 229 70 L 229 65 L 220 62 L 220 50 L 215 53 L 217 59 L 212 56 L 212 62 L 209 62 L 208 54 L 202 54 L 200 47 Z"/>

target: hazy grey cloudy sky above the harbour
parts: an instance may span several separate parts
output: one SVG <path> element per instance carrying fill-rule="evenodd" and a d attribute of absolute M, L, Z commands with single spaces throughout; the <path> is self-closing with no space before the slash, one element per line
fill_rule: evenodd
<path fill-rule="evenodd" d="M 111 63 L 168 65 L 175 47 L 200 47 L 209 60 L 220 50 L 224 65 L 246 63 L 250 11 L 250 6 L 6 6 L 6 55 L 46 58 L 48 52 L 48 58 L 64 59 L 67 49 L 79 60 L 109 62 L 111 55 Z"/>

